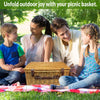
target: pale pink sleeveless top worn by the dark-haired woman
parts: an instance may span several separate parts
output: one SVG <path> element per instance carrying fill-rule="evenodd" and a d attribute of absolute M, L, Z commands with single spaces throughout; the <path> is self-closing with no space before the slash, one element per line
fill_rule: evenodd
<path fill-rule="evenodd" d="M 27 34 L 21 38 L 21 43 L 25 49 L 26 55 L 26 65 L 32 61 L 34 62 L 43 62 L 44 61 L 44 48 L 45 48 L 45 41 L 47 38 L 51 36 L 49 35 L 42 35 L 40 40 L 32 44 L 30 40 L 30 34 Z"/>

